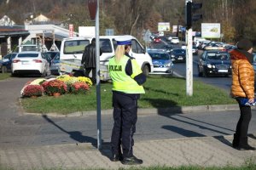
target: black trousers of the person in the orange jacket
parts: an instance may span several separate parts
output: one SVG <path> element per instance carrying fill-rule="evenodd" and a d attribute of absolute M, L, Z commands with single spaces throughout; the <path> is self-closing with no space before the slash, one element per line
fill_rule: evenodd
<path fill-rule="evenodd" d="M 249 123 L 252 118 L 251 107 L 248 105 L 240 105 L 239 100 L 237 100 L 240 107 L 240 118 L 236 125 L 236 143 L 243 144 L 247 142 L 247 132 L 249 128 Z"/>

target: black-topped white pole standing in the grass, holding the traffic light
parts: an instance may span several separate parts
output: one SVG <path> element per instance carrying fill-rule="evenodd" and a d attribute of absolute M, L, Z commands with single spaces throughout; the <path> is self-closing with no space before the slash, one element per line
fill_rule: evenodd
<path fill-rule="evenodd" d="M 193 95 L 192 0 L 186 0 L 186 94 Z"/>

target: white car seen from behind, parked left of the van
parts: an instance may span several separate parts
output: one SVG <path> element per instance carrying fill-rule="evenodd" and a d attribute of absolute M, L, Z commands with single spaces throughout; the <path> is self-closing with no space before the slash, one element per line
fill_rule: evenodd
<path fill-rule="evenodd" d="M 49 61 L 42 52 L 25 51 L 16 54 L 11 65 L 11 73 L 15 75 L 50 75 Z"/>

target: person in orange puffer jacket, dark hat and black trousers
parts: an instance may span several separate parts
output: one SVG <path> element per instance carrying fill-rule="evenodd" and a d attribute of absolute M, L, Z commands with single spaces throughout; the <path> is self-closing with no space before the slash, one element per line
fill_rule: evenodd
<path fill-rule="evenodd" d="M 236 133 L 232 142 L 237 150 L 255 150 L 248 144 L 247 132 L 252 117 L 250 105 L 243 105 L 242 99 L 254 102 L 254 69 L 253 69 L 253 43 L 247 39 L 237 42 L 237 49 L 230 52 L 232 64 L 232 85 L 230 95 L 238 102 L 241 115 L 236 125 Z"/>

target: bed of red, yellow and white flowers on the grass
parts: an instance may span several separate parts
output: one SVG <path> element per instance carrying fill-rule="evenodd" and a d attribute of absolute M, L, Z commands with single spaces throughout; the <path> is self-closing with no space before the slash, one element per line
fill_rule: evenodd
<path fill-rule="evenodd" d="M 92 82 L 87 77 L 70 77 L 62 75 L 56 78 L 44 79 L 38 78 L 26 82 L 21 89 L 21 97 L 42 96 L 44 94 L 85 94 L 90 90 Z"/>

